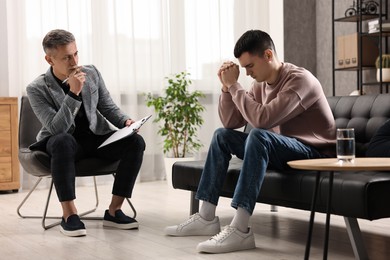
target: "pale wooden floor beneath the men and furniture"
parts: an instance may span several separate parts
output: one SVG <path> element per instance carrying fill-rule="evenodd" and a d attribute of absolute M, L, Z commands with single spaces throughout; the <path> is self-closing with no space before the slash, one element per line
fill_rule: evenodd
<path fill-rule="evenodd" d="M 102 216 L 110 199 L 111 186 L 99 186 L 100 206 L 94 216 Z M 47 190 L 38 190 L 25 213 L 42 212 Z M 251 219 L 256 237 L 254 250 L 221 255 L 197 253 L 196 245 L 208 237 L 168 237 L 167 225 L 178 224 L 189 214 L 189 193 L 174 190 L 166 182 L 137 183 L 132 202 L 137 209 L 139 230 L 103 228 L 101 221 L 86 220 L 87 236 L 63 236 L 59 227 L 44 231 L 40 220 L 22 219 L 16 214 L 25 191 L 0 194 L 0 259 L 303 259 L 309 213 L 279 207 L 270 212 L 269 205 L 257 204 Z M 77 188 L 79 211 L 93 205 L 92 187 Z M 217 208 L 222 225 L 230 223 L 234 210 L 223 198 Z M 27 207 L 27 206 L 26 206 Z M 130 208 L 124 207 L 130 214 Z M 57 199 L 51 214 L 60 212 Z M 316 214 L 310 259 L 322 259 L 325 217 Z M 390 257 L 390 219 L 359 220 L 370 259 Z M 329 259 L 354 259 L 341 217 L 332 216 Z"/>

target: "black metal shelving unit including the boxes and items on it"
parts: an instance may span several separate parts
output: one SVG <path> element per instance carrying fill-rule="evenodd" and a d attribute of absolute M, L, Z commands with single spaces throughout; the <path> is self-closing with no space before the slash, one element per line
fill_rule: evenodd
<path fill-rule="evenodd" d="M 332 92 L 336 95 L 335 74 L 338 71 L 356 72 L 356 90 L 363 94 L 366 85 L 378 86 L 380 93 L 388 92 L 388 82 L 382 81 L 382 69 L 380 68 L 379 81 L 367 80 L 364 71 L 372 70 L 376 73 L 376 58 L 388 51 L 388 37 L 390 31 L 382 27 L 387 20 L 388 0 L 351 0 L 351 6 L 342 8 L 339 1 L 332 0 Z M 345 13 L 338 14 L 335 18 L 335 10 L 344 9 Z M 369 32 L 369 21 L 378 21 L 378 31 Z M 356 30 L 353 34 L 339 35 L 336 37 L 335 24 L 354 23 Z M 340 25 L 340 26 L 341 26 Z"/>

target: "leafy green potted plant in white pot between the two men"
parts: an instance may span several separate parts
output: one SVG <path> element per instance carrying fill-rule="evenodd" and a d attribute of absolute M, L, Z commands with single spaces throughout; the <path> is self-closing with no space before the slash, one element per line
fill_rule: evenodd
<path fill-rule="evenodd" d="M 203 124 L 201 113 L 205 108 L 200 99 L 204 94 L 201 91 L 188 90 L 192 84 L 189 75 L 185 71 L 173 74 L 166 78 L 164 95 L 146 95 L 146 105 L 153 107 L 156 112 L 153 122 L 160 122 L 157 133 L 164 139 L 163 153 L 166 155 L 168 183 L 171 183 L 172 164 L 177 160 L 189 160 L 188 157 L 202 147 L 197 132 Z"/>

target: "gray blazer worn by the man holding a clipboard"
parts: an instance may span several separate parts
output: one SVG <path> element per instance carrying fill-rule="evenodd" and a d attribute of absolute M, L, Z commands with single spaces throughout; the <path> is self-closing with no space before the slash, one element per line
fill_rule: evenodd
<path fill-rule="evenodd" d="M 81 90 L 82 102 L 91 131 L 97 135 L 107 134 L 114 130 L 110 123 L 118 128 L 124 127 L 130 117 L 113 102 L 100 72 L 93 65 L 83 66 L 82 70 L 86 73 Z M 27 86 L 27 95 L 35 115 L 42 123 L 37 141 L 59 133 L 74 132 L 74 119 L 82 102 L 65 95 L 50 68 Z"/>

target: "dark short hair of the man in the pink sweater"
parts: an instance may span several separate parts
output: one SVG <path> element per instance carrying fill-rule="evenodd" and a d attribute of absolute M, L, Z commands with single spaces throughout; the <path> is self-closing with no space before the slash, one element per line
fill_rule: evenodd
<path fill-rule="evenodd" d="M 267 49 L 273 50 L 276 54 L 275 44 L 271 36 L 260 30 L 249 30 L 238 39 L 234 47 L 234 57 L 239 58 L 244 52 L 260 56 Z"/>

